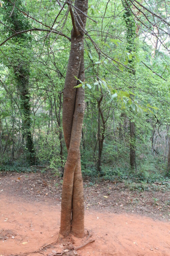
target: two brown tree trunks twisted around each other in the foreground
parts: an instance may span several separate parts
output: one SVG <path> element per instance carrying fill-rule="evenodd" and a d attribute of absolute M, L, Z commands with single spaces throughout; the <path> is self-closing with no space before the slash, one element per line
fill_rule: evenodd
<path fill-rule="evenodd" d="M 84 89 L 74 88 L 75 79 L 85 79 L 84 28 L 88 8 L 87 0 L 75 0 L 74 13 L 70 6 L 73 29 L 71 48 L 63 92 L 63 131 L 68 156 L 64 168 L 60 233 L 67 236 L 71 231 L 84 237 L 84 197 L 80 162 L 80 141 L 84 117 Z"/>

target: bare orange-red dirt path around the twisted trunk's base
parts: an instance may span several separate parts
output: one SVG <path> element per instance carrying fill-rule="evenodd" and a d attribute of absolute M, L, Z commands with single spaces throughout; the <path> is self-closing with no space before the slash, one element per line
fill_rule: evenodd
<path fill-rule="evenodd" d="M 44 251 L 24 254 L 39 251 L 40 247 L 57 238 L 61 204 L 60 195 L 54 197 L 55 199 L 48 198 L 46 194 L 49 191 L 43 190 L 46 188 L 41 188 L 44 191 L 43 197 L 29 196 L 27 184 L 21 182 L 22 177 L 18 180 L 19 182 L 16 182 L 17 177 L 18 174 L 14 174 L 11 180 L 9 176 L 1 176 L 0 179 L 3 185 L 3 188 L 0 186 L 0 255 L 31 256 L 41 253 L 46 256 L 53 254 L 54 251 L 66 250 L 70 244 L 74 246 L 82 244 L 82 240 L 71 237 L 70 244 L 66 244 L 68 241 L 63 240 L 46 247 Z M 35 181 L 30 184 L 31 193 Z M 46 187 L 46 184 L 44 186 Z M 103 194 L 105 195 L 106 191 Z M 101 195 L 100 198 L 103 198 Z M 86 201 L 87 197 L 89 196 L 86 195 Z M 98 208 L 90 206 L 86 207 L 85 211 L 85 228 L 86 232 L 89 230 L 92 238 L 96 240 L 77 251 L 77 255 L 170 256 L 170 224 L 168 222 L 132 214 L 132 212 L 122 212 L 118 215 L 114 213 L 115 209 L 118 209 L 117 206 L 109 208 L 109 212 L 106 212 L 98 203 Z M 63 255 L 76 255 L 76 252 L 65 252 Z"/>

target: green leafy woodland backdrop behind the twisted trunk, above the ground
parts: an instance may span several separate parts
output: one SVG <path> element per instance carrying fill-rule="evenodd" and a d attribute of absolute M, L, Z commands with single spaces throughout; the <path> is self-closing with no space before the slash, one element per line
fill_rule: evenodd
<path fill-rule="evenodd" d="M 146 182 L 170 176 L 166 2 L 142 4 L 162 20 L 137 1 L 88 3 L 86 79 L 76 79 L 77 88 L 85 88 L 81 168 L 91 181 L 124 180 L 132 189 L 140 181 L 145 189 Z M 62 1 L 17 0 L 14 10 L 13 6 L 1 1 L 0 171 L 51 169 L 62 175 L 67 159 L 62 103 L 71 14 Z"/>

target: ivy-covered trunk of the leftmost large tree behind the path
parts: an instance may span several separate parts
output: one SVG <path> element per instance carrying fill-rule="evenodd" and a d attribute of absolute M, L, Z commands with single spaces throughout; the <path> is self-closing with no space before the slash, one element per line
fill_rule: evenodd
<path fill-rule="evenodd" d="M 16 3 L 17 4 L 17 3 Z M 21 2 L 18 2 L 21 5 Z M 29 26 L 29 21 L 23 14 L 20 14 L 17 8 L 11 13 L 13 9 L 13 4 L 9 0 L 5 0 L 6 12 L 8 12 L 9 17 L 7 22 L 12 23 L 15 31 L 22 31 L 27 29 Z M 11 15 L 12 14 L 12 15 Z M 21 16 L 20 16 L 21 15 Z M 10 32 L 11 33 L 11 30 Z M 17 49 L 20 50 L 20 39 L 26 41 L 28 45 L 31 42 L 28 34 L 17 35 L 15 38 L 16 42 L 16 52 Z M 15 56 L 15 53 L 14 53 Z M 22 114 L 22 138 L 26 140 L 27 148 L 27 158 L 31 164 L 35 163 L 35 150 L 32 139 L 32 125 L 31 125 L 31 103 L 30 103 L 30 93 L 29 93 L 29 64 L 22 59 L 15 59 L 15 65 L 13 66 L 15 72 L 15 79 L 17 83 L 17 90 L 20 98 L 20 109 Z"/>

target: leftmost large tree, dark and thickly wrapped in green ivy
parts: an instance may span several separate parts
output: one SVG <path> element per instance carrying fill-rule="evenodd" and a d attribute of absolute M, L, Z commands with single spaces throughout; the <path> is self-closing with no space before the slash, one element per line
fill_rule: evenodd
<path fill-rule="evenodd" d="M 21 7 L 21 1 L 17 1 L 17 6 Z M 4 1 L 4 20 L 14 31 L 19 32 L 30 27 L 27 17 L 24 17 L 18 9 L 14 8 L 11 1 Z M 11 35 L 11 29 L 5 27 L 8 35 Z M 31 102 L 29 93 L 29 61 L 23 59 L 21 56 L 26 49 L 31 47 L 31 35 L 20 34 L 13 39 L 15 50 L 11 52 L 13 55 L 13 70 L 16 80 L 16 86 L 20 97 L 20 111 L 22 115 L 22 140 L 26 140 L 27 157 L 31 163 L 35 162 L 35 151 L 32 139 L 32 121 L 31 121 Z M 21 52 L 21 48 L 23 48 Z M 18 53 L 19 54 L 18 54 Z M 20 54 L 21 53 L 21 54 Z"/>

